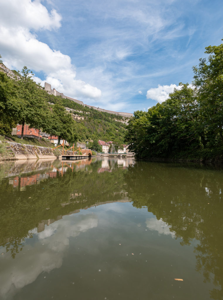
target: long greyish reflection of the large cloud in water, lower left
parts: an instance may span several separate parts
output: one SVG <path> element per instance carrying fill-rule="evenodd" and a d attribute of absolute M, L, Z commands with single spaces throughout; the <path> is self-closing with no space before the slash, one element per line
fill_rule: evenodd
<path fill-rule="evenodd" d="M 38 240 L 34 247 L 26 245 L 16 259 L 11 258 L 10 251 L 1 257 L 0 298 L 13 296 L 17 289 L 35 281 L 43 271 L 60 268 L 64 251 L 69 246 L 69 237 L 98 226 L 98 218 L 94 215 L 80 216 L 75 220 L 74 223 L 69 216 L 37 233 Z"/>

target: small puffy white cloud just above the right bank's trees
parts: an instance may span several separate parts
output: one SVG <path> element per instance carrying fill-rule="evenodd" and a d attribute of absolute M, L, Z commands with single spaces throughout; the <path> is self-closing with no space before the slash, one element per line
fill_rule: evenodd
<path fill-rule="evenodd" d="M 179 90 L 181 87 L 172 83 L 171 85 L 158 85 L 158 88 L 150 88 L 147 91 L 146 98 L 162 103 L 168 99 L 170 93 L 173 93 L 174 88 Z"/>

